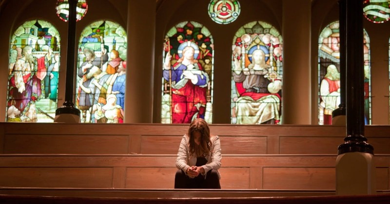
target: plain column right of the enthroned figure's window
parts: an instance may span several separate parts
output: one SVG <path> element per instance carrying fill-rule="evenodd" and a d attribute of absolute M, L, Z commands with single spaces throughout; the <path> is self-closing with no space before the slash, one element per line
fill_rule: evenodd
<path fill-rule="evenodd" d="M 311 8 L 311 0 L 283 0 L 283 124 L 312 121 Z"/>

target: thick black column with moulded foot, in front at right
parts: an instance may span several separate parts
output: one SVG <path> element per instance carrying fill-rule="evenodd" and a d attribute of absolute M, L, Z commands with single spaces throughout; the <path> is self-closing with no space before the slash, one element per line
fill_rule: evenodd
<path fill-rule="evenodd" d="M 345 15 L 340 16 L 340 19 L 344 16 L 346 18 L 347 136 L 344 138 L 345 143 L 338 146 L 338 154 L 348 152 L 373 154 L 372 145 L 366 143 L 367 138 L 364 137 L 363 2 L 345 1 L 346 4 L 342 7 L 345 9 Z"/>

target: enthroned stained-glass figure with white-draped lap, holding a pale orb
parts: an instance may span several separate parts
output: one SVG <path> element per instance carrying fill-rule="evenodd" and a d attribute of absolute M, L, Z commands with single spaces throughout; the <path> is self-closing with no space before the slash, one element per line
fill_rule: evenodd
<path fill-rule="evenodd" d="M 242 46 L 236 46 L 238 49 L 234 52 L 233 81 L 237 97 L 233 100 L 237 124 L 280 121 L 281 76 L 269 57 L 270 46 L 261 37 L 264 35 L 244 34 Z"/>

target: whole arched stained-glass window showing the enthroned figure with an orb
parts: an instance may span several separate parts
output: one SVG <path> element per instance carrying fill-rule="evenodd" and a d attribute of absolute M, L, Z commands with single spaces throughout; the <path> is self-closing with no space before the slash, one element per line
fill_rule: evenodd
<path fill-rule="evenodd" d="M 232 47 L 232 124 L 281 124 L 282 36 L 253 21 L 235 33 Z"/>

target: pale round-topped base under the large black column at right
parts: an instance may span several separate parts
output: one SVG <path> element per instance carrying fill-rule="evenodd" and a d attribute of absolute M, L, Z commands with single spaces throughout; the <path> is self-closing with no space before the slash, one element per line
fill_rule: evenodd
<path fill-rule="evenodd" d="M 374 155 L 363 152 L 340 154 L 336 159 L 336 195 L 376 193 Z"/>

